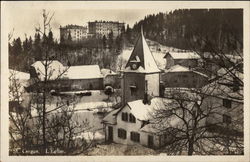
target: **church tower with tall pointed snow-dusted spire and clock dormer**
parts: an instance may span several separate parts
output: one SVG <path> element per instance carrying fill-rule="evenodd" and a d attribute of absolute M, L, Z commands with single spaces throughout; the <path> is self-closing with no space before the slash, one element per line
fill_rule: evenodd
<path fill-rule="evenodd" d="M 129 101 L 144 99 L 145 94 L 159 96 L 160 72 L 141 29 L 123 71 L 123 105 Z"/>

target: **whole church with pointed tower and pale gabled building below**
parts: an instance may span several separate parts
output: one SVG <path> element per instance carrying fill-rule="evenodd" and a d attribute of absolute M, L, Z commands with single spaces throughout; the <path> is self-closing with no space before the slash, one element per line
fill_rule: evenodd
<path fill-rule="evenodd" d="M 153 110 L 166 102 L 159 97 L 160 73 L 141 30 L 123 71 L 122 106 L 102 121 L 106 141 L 150 148 L 165 143 L 164 135 L 151 122 Z"/>

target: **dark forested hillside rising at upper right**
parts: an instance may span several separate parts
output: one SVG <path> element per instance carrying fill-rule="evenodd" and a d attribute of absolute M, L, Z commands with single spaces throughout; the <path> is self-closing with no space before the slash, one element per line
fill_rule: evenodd
<path fill-rule="evenodd" d="M 148 15 L 126 30 L 129 39 L 133 41 L 141 25 L 146 38 L 167 46 L 191 49 L 195 43 L 209 51 L 207 44 L 212 43 L 226 52 L 243 48 L 242 9 L 179 9 Z"/>

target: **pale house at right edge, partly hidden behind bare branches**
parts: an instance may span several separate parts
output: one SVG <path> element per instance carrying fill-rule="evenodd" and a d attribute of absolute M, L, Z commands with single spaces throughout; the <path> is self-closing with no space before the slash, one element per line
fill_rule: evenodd
<path fill-rule="evenodd" d="M 243 73 L 233 68 L 228 70 L 243 80 Z M 207 124 L 214 125 L 210 131 L 243 137 L 243 89 L 234 83 L 228 70 L 221 68 L 217 72 L 221 78 L 202 87 L 207 93 L 202 106 L 203 109 L 214 107 L 206 119 Z"/>

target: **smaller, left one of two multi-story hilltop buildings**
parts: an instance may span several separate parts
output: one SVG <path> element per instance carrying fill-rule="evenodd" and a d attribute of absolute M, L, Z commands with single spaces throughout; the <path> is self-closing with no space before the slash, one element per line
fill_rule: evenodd
<path fill-rule="evenodd" d="M 68 40 L 69 36 L 72 41 L 81 41 L 87 38 L 88 30 L 87 27 L 79 25 L 66 25 L 60 26 L 60 40 Z"/>

